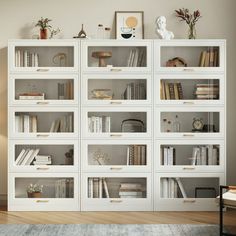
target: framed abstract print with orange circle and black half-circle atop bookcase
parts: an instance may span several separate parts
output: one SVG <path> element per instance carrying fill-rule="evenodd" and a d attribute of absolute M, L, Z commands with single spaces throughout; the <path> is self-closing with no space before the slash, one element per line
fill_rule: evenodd
<path fill-rule="evenodd" d="M 116 11 L 116 39 L 143 39 L 143 11 Z"/>

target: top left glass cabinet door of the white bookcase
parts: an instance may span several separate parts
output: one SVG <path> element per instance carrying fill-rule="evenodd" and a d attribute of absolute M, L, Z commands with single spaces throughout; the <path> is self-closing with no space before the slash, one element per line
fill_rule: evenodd
<path fill-rule="evenodd" d="M 71 72 L 78 70 L 78 41 L 22 40 L 9 44 L 13 72 Z"/>

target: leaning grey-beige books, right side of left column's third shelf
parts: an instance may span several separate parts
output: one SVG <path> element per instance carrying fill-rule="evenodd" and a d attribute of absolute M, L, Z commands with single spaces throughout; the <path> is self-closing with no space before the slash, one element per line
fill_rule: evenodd
<path fill-rule="evenodd" d="M 49 132 L 73 132 L 73 115 L 66 115 L 54 120 Z"/>

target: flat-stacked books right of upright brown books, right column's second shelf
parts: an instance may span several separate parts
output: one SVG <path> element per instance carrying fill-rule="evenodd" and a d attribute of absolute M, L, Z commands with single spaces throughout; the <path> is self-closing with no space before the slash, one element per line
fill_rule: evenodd
<path fill-rule="evenodd" d="M 196 84 L 195 90 L 196 99 L 218 99 L 219 85 L 218 84 Z"/>

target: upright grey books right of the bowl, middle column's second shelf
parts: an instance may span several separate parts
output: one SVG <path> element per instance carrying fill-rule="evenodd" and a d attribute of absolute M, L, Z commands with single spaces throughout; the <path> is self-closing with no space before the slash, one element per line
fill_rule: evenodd
<path fill-rule="evenodd" d="M 142 100 L 146 99 L 146 89 L 144 83 L 129 83 L 124 92 L 124 99 Z"/>

